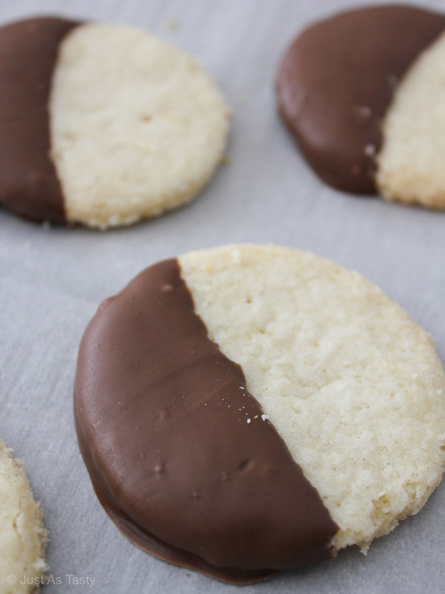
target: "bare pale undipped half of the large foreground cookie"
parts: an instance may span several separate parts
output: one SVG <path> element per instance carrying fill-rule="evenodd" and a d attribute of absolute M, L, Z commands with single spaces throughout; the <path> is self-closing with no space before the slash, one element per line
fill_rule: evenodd
<path fill-rule="evenodd" d="M 336 550 L 415 514 L 445 460 L 445 377 L 430 336 L 357 272 L 233 245 L 179 258 L 209 337 L 339 526 Z"/>

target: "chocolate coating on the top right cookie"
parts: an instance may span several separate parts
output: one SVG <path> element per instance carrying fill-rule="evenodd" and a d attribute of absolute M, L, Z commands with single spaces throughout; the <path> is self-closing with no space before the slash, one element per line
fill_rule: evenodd
<path fill-rule="evenodd" d="M 344 12 L 297 37 L 279 67 L 279 110 L 326 184 L 376 192 L 375 154 L 397 81 L 444 30 L 445 15 L 387 5 Z"/>

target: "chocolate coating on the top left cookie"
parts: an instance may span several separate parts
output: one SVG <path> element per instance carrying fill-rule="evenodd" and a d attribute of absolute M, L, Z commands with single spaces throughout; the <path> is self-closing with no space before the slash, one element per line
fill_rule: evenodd
<path fill-rule="evenodd" d="M 59 45 L 78 24 L 32 18 L 0 28 L 0 204 L 28 219 L 65 223 L 48 102 Z"/>

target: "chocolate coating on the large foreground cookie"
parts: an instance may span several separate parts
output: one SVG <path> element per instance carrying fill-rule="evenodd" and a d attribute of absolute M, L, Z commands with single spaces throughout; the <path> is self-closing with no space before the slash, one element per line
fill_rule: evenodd
<path fill-rule="evenodd" d="M 233 583 L 328 558 L 338 530 L 245 386 L 167 260 L 101 304 L 74 390 L 82 456 L 121 532 Z"/>

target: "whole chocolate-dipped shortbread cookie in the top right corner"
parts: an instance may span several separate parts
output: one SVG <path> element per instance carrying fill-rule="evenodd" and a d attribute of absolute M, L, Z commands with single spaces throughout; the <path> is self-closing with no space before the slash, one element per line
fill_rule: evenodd
<path fill-rule="evenodd" d="M 445 207 L 445 15 L 389 5 L 297 37 L 279 68 L 282 118 L 327 184 Z"/>

